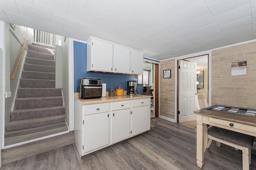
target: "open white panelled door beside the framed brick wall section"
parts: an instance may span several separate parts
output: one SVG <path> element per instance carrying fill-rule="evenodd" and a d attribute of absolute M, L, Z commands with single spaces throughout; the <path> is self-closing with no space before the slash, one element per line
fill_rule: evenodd
<path fill-rule="evenodd" d="M 179 122 L 195 120 L 196 63 L 179 60 Z"/>

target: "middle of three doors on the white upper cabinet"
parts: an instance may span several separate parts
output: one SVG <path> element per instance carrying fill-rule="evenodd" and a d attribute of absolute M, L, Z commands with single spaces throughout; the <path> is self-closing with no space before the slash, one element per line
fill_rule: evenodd
<path fill-rule="evenodd" d="M 114 45 L 114 72 L 130 72 L 130 49 Z"/>

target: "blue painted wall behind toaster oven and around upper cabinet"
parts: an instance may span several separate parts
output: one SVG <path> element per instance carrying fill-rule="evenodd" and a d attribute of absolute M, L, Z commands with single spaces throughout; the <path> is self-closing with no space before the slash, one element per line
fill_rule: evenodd
<path fill-rule="evenodd" d="M 134 80 L 137 76 L 123 74 L 108 74 L 99 72 L 86 72 L 86 43 L 74 41 L 74 92 L 78 92 L 77 88 L 80 85 L 80 78 L 100 78 L 107 84 L 106 90 L 110 87 L 116 88 L 121 85 L 124 90 L 127 90 L 127 81 Z"/>

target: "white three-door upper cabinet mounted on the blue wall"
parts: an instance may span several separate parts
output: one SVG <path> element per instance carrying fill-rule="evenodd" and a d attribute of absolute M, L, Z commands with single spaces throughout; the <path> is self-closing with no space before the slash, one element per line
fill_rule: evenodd
<path fill-rule="evenodd" d="M 143 74 L 143 52 L 91 37 L 87 41 L 87 71 Z"/>

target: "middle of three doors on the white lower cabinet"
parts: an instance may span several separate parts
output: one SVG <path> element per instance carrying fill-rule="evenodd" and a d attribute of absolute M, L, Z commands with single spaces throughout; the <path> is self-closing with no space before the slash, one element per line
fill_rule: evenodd
<path fill-rule="evenodd" d="M 130 109 L 112 111 L 112 143 L 130 137 Z"/>

